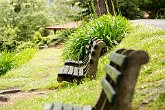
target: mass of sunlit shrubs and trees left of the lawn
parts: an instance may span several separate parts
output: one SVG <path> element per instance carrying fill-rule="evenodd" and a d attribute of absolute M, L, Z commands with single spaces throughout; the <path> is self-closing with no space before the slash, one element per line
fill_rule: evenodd
<path fill-rule="evenodd" d="M 1 0 L 0 7 L 1 75 L 17 67 L 15 61 L 19 60 L 14 61 L 14 55 L 21 54 L 23 58 L 29 55 L 28 50 L 31 53 L 29 48 L 36 50 L 40 46 L 63 41 L 68 31 L 50 37 L 46 26 L 72 21 L 79 12 L 78 7 L 72 7 L 66 0 Z"/>

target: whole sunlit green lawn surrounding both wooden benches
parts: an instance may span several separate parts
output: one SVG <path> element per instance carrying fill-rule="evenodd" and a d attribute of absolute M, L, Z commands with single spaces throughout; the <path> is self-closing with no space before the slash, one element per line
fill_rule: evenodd
<path fill-rule="evenodd" d="M 148 52 L 150 62 L 141 69 L 135 94 L 133 109 L 159 110 L 165 109 L 165 30 L 153 27 L 135 26 L 111 52 L 119 48 L 140 49 Z M 46 95 L 35 96 L 29 99 L 21 99 L 16 103 L 0 107 L 2 110 L 40 110 L 47 102 L 64 102 L 77 105 L 94 105 L 99 97 L 100 80 L 104 77 L 104 67 L 109 63 L 109 53 L 99 61 L 97 77 L 95 80 L 85 80 L 82 84 L 57 83 L 56 77 L 59 67 L 63 64 L 60 56 L 62 49 L 45 49 L 39 51 L 36 56 L 20 68 L 11 70 L 0 77 L 1 89 L 19 87 L 23 90 L 52 89 Z"/>

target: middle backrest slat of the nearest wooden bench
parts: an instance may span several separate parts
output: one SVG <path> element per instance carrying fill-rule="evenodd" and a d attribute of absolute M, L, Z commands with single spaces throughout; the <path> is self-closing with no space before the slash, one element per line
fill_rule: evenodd
<path fill-rule="evenodd" d="M 117 83 L 118 78 L 121 76 L 121 72 L 118 71 L 116 68 L 112 67 L 111 65 L 105 66 L 105 72 L 111 77 L 111 79 Z"/>

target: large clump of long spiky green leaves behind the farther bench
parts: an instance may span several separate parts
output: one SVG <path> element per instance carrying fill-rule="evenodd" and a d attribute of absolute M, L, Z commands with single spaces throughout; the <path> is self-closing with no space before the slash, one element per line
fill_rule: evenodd
<path fill-rule="evenodd" d="M 108 48 L 121 41 L 124 33 L 128 31 L 129 22 L 122 16 L 103 15 L 69 36 L 63 52 L 64 59 L 81 59 L 85 53 L 85 45 L 90 39 L 96 37 L 103 39 Z"/>

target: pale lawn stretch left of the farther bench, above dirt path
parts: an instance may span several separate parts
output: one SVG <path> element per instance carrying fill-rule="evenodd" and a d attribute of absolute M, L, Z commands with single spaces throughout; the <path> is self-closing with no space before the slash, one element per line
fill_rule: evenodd
<path fill-rule="evenodd" d="M 47 54 L 45 54 L 47 53 Z M 61 65 L 60 49 L 45 49 L 19 68 L 12 69 L 0 77 L 0 89 L 20 88 L 22 90 L 56 87 L 55 78 Z"/>

